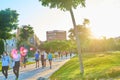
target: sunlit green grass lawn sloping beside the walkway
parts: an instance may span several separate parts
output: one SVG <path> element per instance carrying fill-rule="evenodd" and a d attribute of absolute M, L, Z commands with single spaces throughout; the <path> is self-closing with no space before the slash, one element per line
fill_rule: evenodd
<path fill-rule="evenodd" d="M 120 79 L 120 52 L 83 53 L 84 80 Z M 82 80 L 78 56 L 72 58 L 50 80 Z"/>

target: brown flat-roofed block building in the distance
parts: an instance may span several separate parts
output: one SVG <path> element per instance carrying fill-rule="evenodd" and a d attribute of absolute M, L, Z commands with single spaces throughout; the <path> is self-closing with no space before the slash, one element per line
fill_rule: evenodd
<path fill-rule="evenodd" d="M 66 31 L 63 30 L 47 31 L 46 37 L 47 37 L 47 41 L 66 40 Z"/>

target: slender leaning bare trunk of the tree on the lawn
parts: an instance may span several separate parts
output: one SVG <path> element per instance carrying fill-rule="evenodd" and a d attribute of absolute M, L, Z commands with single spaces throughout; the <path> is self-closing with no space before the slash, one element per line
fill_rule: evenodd
<path fill-rule="evenodd" d="M 76 22 L 75 22 L 72 8 L 70 9 L 70 14 L 71 14 L 71 18 L 72 18 L 72 22 L 73 22 L 73 26 L 74 26 L 75 37 L 76 37 L 76 42 L 77 42 L 77 50 L 78 50 L 78 56 L 79 56 L 79 62 L 80 62 L 80 71 L 81 71 L 81 74 L 83 75 L 84 74 L 84 67 L 83 67 L 83 61 L 82 61 L 82 55 L 81 55 L 80 39 L 78 36 L 78 30 L 76 27 Z"/>

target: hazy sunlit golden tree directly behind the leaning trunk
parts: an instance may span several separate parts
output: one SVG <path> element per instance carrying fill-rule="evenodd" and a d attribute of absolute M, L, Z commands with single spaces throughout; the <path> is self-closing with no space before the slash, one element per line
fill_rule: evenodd
<path fill-rule="evenodd" d="M 89 28 L 86 27 L 86 25 L 89 23 L 88 19 L 84 19 L 83 24 L 82 25 L 77 25 L 77 30 L 78 30 L 78 36 L 81 40 L 80 44 L 81 44 L 81 49 L 85 49 L 87 47 L 87 44 L 89 42 L 89 38 L 91 36 L 91 31 Z M 75 41 L 75 32 L 74 29 L 71 28 L 69 30 L 69 38 L 72 41 Z"/>

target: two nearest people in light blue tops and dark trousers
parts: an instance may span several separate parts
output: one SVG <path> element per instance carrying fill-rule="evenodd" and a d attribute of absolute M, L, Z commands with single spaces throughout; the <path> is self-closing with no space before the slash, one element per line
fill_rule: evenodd
<path fill-rule="evenodd" d="M 21 56 L 20 54 L 17 54 L 16 56 L 17 56 L 16 58 L 13 58 L 13 55 L 9 56 L 7 52 L 3 52 L 1 58 L 2 58 L 2 73 L 5 76 L 4 80 L 8 78 L 9 66 L 13 68 L 13 72 L 16 76 L 16 80 L 18 80 Z M 12 59 L 12 64 L 10 64 L 11 59 Z"/>

